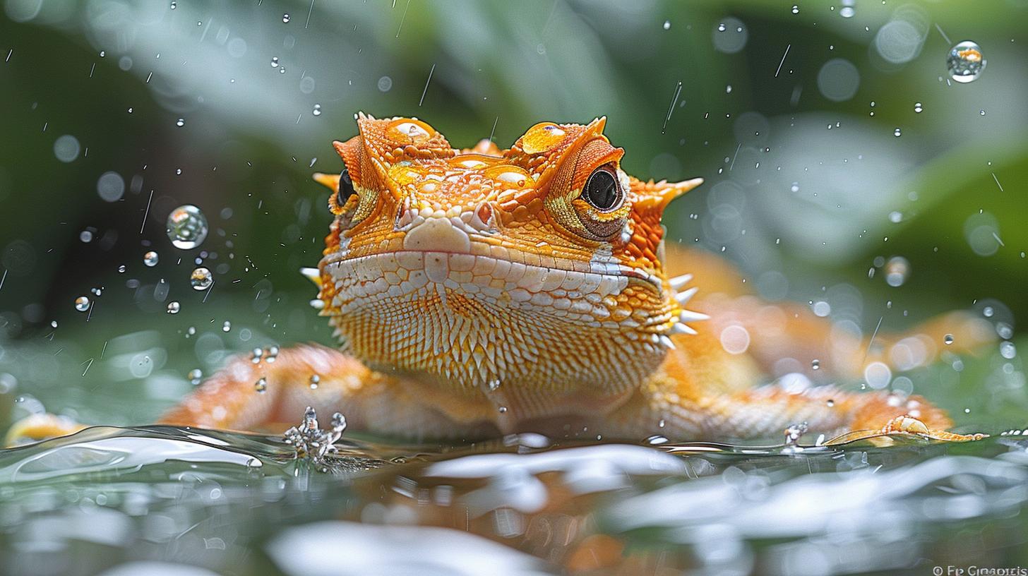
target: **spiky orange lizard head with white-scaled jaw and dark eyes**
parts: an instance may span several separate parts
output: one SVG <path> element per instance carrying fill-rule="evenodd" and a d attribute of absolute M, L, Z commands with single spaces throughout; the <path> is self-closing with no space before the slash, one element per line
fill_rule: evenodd
<path fill-rule="evenodd" d="M 316 303 L 344 350 L 466 388 L 610 393 L 655 369 L 700 319 L 665 276 L 660 219 L 701 180 L 628 176 L 604 121 L 455 150 L 416 118 L 359 114 L 334 143 L 345 169 L 315 176 L 335 215 Z"/>

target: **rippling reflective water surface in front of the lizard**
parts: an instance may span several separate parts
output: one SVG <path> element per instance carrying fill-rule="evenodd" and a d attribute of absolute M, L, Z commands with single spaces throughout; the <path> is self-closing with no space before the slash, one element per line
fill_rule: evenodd
<path fill-rule="evenodd" d="M 1014 562 L 1028 535 L 1020 434 L 802 452 L 531 434 L 337 446 L 330 473 L 278 437 L 172 427 L 5 451 L 0 571 L 917 573 Z"/>

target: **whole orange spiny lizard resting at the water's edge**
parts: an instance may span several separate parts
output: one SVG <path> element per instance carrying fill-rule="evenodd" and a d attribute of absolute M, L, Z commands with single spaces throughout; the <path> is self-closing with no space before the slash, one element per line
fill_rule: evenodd
<path fill-rule="evenodd" d="M 801 422 L 840 439 L 982 437 L 947 432 L 919 396 L 808 385 L 887 379 L 896 347 L 923 365 L 945 334 L 975 348 L 991 339 L 983 320 L 950 313 L 873 348 L 806 307 L 746 294 L 714 256 L 665 246 L 665 207 L 702 180 L 628 176 L 604 122 L 456 150 L 416 118 L 358 114 L 359 135 L 334 143 L 341 174 L 315 175 L 335 218 L 306 271 L 340 349 L 234 359 L 161 422 L 252 431 L 309 405 L 413 438 L 726 439 Z M 803 375 L 756 386 L 783 358 Z M 19 432 L 54 432 L 37 428 Z"/>

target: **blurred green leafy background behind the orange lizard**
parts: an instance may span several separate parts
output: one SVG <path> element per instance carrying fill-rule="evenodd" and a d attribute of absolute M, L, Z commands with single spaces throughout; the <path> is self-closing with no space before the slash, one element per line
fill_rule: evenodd
<path fill-rule="evenodd" d="M 359 110 L 457 147 L 607 115 L 629 173 L 706 179 L 670 237 L 765 297 L 865 334 L 991 307 L 1028 346 L 1024 0 L 0 3 L 0 388 L 22 412 L 142 424 L 192 368 L 330 343 L 297 268 L 330 221 L 309 175 L 340 170 Z M 970 83 L 947 71 L 961 40 L 988 62 Z M 197 249 L 164 233 L 182 204 Z M 908 375 L 963 423 L 1018 424 L 1014 350 Z"/>

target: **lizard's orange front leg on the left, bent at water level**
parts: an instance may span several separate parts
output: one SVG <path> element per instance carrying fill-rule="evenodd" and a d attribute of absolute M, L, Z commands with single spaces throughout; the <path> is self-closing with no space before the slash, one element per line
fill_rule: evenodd
<path fill-rule="evenodd" d="M 163 417 L 160 424 L 280 432 L 306 406 L 342 412 L 348 429 L 405 438 L 480 437 L 488 424 L 457 421 L 426 402 L 421 383 L 371 370 L 323 346 L 283 349 L 273 361 L 236 357 Z"/>

